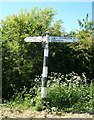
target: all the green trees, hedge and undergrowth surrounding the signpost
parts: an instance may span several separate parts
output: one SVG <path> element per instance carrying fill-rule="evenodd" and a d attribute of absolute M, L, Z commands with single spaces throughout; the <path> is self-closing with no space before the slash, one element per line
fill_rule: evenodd
<path fill-rule="evenodd" d="M 79 41 L 49 44 L 47 108 L 91 112 L 94 106 L 93 23 L 87 14 L 85 19 L 78 20 L 81 30 L 66 34 L 61 27 L 63 22 L 53 21 L 54 15 L 52 8 L 35 8 L 2 20 L 3 102 L 10 101 L 11 108 L 43 109 L 39 77 L 43 48 L 39 43 L 25 43 L 24 38 L 44 36 L 49 31 L 50 36 L 77 37 Z"/>

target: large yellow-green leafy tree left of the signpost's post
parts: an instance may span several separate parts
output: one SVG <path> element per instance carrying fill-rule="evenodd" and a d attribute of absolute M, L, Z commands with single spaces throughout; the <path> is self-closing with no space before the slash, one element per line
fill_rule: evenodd
<path fill-rule="evenodd" d="M 3 98 L 33 87 L 38 84 L 35 75 L 41 75 L 43 49 L 39 43 L 25 43 L 27 36 L 44 36 L 46 31 L 51 35 L 62 35 L 62 22 L 53 21 L 55 11 L 52 8 L 44 10 L 34 8 L 30 11 L 20 11 L 19 15 L 7 16 L 2 20 L 2 53 L 3 53 Z M 40 81 L 39 81 L 40 82 Z"/>

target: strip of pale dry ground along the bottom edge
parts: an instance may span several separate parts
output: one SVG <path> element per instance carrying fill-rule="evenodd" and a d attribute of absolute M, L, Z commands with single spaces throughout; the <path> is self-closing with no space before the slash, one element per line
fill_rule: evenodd
<path fill-rule="evenodd" d="M 0 108 L 0 119 L 2 118 L 92 118 L 94 119 L 94 115 L 90 115 L 88 113 L 63 113 L 63 112 L 48 112 L 47 110 L 37 112 L 35 110 L 24 110 L 15 111 L 9 108 Z"/>

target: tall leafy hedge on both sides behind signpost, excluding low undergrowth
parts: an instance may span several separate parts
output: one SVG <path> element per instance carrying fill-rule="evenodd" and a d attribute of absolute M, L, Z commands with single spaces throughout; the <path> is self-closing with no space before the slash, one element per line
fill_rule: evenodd
<path fill-rule="evenodd" d="M 19 15 L 7 16 L 2 21 L 3 99 L 15 98 L 18 93 L 23 99 L 32 99 L 37 95 L 41 78 L 36 76 L 41 76 L 43 48 L 40 43 L 25 43 L 24 38 L 44 36 L 46 31 L 52 36 L 65 35 L 62 21 L 54 22 L 54 15 L 52 8 L 34 8 L 21 11 Z M 66 75 L 74 71 L 80 76 L 85 73 L 86 77 L 94 78 L 92 23 L 88 21 L 88 15 L 78 22 L 81 30 L 66 35 L 77 37 L 77 43 L 49 44 L 49 75 L 51 72 Z"/>

